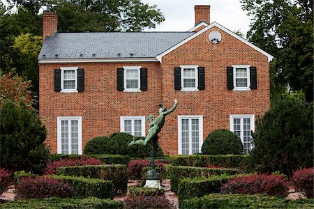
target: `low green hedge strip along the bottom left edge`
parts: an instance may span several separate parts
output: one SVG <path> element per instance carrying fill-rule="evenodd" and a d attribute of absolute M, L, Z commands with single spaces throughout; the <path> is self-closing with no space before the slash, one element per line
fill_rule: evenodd
<path fill-rule="evenodd" d="M 46 208 L 46 209 L 85 209 L 85 208 L 112 208 L 122 209 L 124 203 L 122 201 L 112 201 L 110 199 L 97 199 L 97 198 L 85 198 L 85 199 L 32 199 L 27 201 L 10 201 L 1 205 L 1 208 Z"/>

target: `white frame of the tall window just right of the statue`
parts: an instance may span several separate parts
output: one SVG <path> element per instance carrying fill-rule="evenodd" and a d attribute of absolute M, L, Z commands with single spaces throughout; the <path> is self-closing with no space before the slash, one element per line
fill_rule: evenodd
<path fill-rule="evenodd" d="M 203 145 L 203 116 L 199 115 L 192 115 L 192 116 L 187 116 L 187 115 L 181 115 L 178 116 L 178 154 L 182 155 L 182 119 L 199 119 L 199 127 L 200 127 L 200 133 L 199 133 L 199 137 L 200 137 L 200 141 L 199 141 L 199 153 L 201 153 L 202 150 L 202 145 Z M 189 132 L 192 131 L 191 128 L 192 123 L 189 123 Z M 189 134 L 189 137 L 192 137 L 192 134 Z M 189 139 L 189 155 L 192 155 L 192 140 Z"/>

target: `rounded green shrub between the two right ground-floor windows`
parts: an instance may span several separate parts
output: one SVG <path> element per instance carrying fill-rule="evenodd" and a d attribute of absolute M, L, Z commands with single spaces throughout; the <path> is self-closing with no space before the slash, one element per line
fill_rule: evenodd
<path fill-rule="evenodd" d="M 243 153 L 240 137 L 229 130 L 214 130 L 202 145 L 204 155 L 239 155 Z"/>

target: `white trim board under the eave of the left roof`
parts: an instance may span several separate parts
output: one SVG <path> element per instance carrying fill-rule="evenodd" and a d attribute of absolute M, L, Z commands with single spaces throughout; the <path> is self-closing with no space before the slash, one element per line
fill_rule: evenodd
<path fill-rule="evenodd" d="M 128 62 L 158 62 L 155 57 L 149 58 L 87 58 L 87 59 L 38 59 L 38 63 L 128 63 Z"/>

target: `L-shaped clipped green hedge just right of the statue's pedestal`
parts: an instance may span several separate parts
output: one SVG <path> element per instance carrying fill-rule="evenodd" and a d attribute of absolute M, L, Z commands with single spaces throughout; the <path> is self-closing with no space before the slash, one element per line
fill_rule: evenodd
<path fill-rule="evenodd" d="M 202 167 L 174 167 L 167 169 L 167 176 L 171 180 L 171 191 L 177 194 L 178 186 L 182 178 L 194 178 L 197 176 L 218 176 L 221 174 L 234 175 L 239 173 L 238 169 L 209 169 Z"/>

